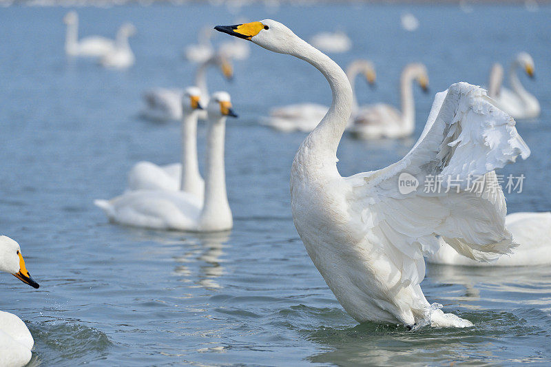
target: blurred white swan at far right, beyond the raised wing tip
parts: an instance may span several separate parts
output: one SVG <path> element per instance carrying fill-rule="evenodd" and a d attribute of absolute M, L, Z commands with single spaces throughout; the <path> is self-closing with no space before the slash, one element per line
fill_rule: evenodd
<path fill-rule="evenodd" d="M 495 86 L 488 90 L 488 94 L 495 99 L 497 106 L 513 118 L 536 118 L 541 112 L 539 101 L 528 93 L 517 76 L 517 68 L 523 70 L 532 78 L 534 76 L 534 60 L 526 52 L 517 54 L 509 70 L 509 83 L 512 90 L 501 87 L 503 80 L 503 67 L 494 64 L 490 71 L 489 86 Z M 501 69 L 501 72 L 500 72 Z M 492 92 L 490 94 L 490 91 Z"/>

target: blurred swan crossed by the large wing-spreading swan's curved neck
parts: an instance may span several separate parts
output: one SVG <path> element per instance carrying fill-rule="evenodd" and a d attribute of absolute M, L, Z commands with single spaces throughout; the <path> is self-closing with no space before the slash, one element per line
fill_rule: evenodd
<path fill-rule="evenodd" d="M 236 40 L 239 41 L 239 40 Z M 368 60 L 358 59 L 352 61 L 346 67 L 346 76 L 352 85 L 352 116 L 354 116 L 360 107 L 357 104 L 355 81 L 358 74 L 362 73 L 369 85 L 375 85 L 375 67 Z M 317 103 L 299 103 L 296 105 L 287 105 L 275 107 L 270 111 L 269 118 L 262 118 L 260 123 L 282 132 L 311 132 L 320 120 L 325 116 L 329 107 Z"/>

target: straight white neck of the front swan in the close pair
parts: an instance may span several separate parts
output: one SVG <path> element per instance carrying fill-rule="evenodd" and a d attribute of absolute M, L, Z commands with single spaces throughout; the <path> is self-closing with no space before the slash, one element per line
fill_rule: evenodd
<path fill-rule="evenodd" d="M 226 174 L 224 168 L 224 139 L 226 118 L 212 118 L 209 116 L 207 132 L 207 163 L 205 165 L 205 199 L 200 227 L 216 227 L 216 222 L 231 220 L 228 197 L 226 193 Z M 223 225 L 223 224 L 222 224 Z"/>

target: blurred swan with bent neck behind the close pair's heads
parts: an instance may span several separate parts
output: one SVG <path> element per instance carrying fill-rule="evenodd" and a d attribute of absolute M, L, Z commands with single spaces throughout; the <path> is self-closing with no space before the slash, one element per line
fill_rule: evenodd
<path fill-rule="evenodd" d="M 229 59 L 222 54 L 215 54 L 199 65 L 195 74 L 195 85 L 200 89 L 200 102 L 203 106 L 209 103 L 207 69 L 211 66 L 219 67 L 227 80 L 233 78 L 233 66 Z M 145 92 L 143 95 L 145 108 L 142 110 L 141 116 L 154 121 L 180 120 L 183 116 L 183 94 L 184 90 L 178 88 L 154 88 Z M 202 120 L 206 117 L 205 114 L 199 114 L 199 118 Z"/>

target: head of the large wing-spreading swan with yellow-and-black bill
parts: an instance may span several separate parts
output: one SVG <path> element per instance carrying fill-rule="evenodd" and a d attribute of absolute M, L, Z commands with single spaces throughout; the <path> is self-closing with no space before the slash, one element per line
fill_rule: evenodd
<path fill-rule="evenodd" d="M 236 25 L 216 25 L 218 32 L 256 43 L 262 48 L 280 54 L 293 54 L 300 38 L 278 21 L 264 19 Z M 304 42 L 304 41 L 303 41 Z"/>

